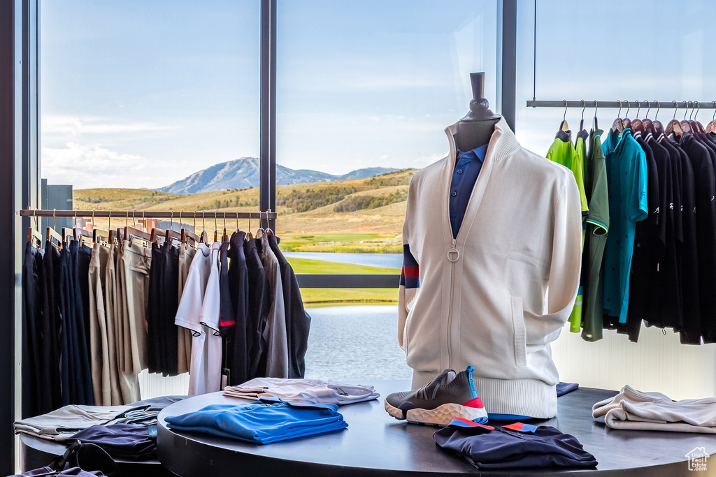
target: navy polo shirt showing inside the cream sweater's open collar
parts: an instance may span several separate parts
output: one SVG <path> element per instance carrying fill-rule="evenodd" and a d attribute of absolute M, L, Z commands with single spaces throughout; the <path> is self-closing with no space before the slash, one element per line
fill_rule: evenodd
<path fill-rule="evenodd" d="M 465 210 L 487 151 L 488 144 L 485 144 L 468 152 L 458 150 L 456 154 L 453 182 L 450 183 L 450 225 L 453 227 L 453 238 L 458 236 L 460 225 L 463 225 Z"/>

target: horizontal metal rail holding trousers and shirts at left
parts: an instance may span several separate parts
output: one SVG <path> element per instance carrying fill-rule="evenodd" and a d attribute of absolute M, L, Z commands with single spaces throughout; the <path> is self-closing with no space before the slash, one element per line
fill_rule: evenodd
<path fill-rule="evenodd" d="M 112 219 L 276 219 L 276 212 L 183 212 L 180 210 L 20 210 L 22 217 L 97 217 Z"/>

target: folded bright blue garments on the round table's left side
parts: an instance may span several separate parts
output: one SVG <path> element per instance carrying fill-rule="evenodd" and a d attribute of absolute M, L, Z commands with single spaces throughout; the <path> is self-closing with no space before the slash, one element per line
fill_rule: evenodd
<path fill-rule="evenodd" d="M 245 404 L 213 404 L 166 418 L 169 428 L 269 444 L 347 428 L 338 406 L 262 398 Z"/>

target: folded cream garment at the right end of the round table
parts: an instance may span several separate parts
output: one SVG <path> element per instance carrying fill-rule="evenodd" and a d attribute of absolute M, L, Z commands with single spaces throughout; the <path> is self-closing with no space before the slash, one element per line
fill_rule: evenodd
<path fill-rule="evenodd" d="M 642 393 L 629 385 L 596 403 L 595 418 L 614 429 L 716 433 L 716 398 L 672 401 L 662 393 Z"/>

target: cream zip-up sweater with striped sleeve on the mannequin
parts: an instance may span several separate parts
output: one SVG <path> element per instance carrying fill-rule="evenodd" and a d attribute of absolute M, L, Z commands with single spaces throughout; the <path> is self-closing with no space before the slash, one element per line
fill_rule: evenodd
<path fill-rule="evenodd" d="M 398 341 L 413 388 L 473 365 L 488 413 L 553 417 L 559 378 L 549 343 L 569 318 L 581 266 L 574 175 L 523 149 L 500 119 L 453 238 L 456 132 L 445 129 L 450 155 L 410 182 Z"/>

